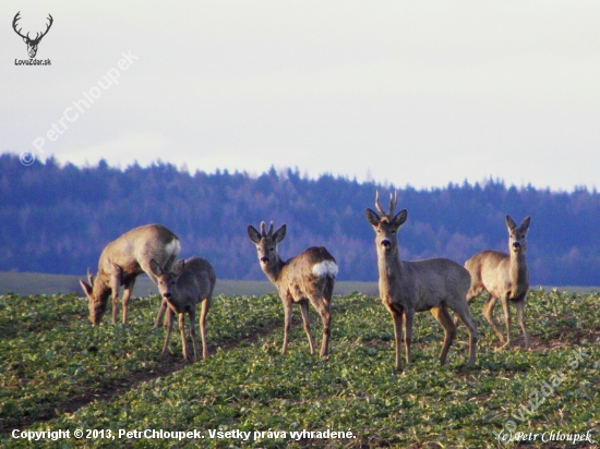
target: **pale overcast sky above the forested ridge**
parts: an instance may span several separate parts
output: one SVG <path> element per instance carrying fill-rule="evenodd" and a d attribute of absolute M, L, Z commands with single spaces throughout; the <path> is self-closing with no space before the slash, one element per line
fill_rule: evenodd
<path fill-rule="evenodd" d="M 17 12 L 33 36 L 51 14 L 50 65 L 22 64 Z M 597 1 L 7 0 L 0 153 L 596 189 L 598 17 Z"/>

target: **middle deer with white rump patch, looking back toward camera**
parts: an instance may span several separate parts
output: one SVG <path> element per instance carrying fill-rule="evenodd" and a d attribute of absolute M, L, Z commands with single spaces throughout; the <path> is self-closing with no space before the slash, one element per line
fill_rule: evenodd
<path fill-rule="evenodd" d="M 286 225 L 274 233 L 273 221 L 268 232 L 265 232 L 264 221 L 261 223 L 261 232 L 249 226 L 248 236 L 256 245 L 261 268 L 268 280 L 277 288 L 284 302 L 285 327 L 281 354 L 286 353 L 288 347 L 292 304 L 300 304 L 311 354 L 314 353 L 309 320 L 310 301 L 323 321 L 321 356 L 325 357 L 328 353 L 329 336 L 332 333 L 332 314 L 329 311 L 337 276 L 335 258 L 323 246 L 313 246 L 287 262 L 281 260 L 277 253 L 277 244 L 286 236 Z"/>

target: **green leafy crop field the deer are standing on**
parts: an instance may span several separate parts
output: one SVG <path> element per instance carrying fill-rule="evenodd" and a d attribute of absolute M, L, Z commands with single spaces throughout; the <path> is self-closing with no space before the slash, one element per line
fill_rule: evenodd
<path fill-rule="evenodd" d="M 157 296 L 132 299 L 127 326 L 105 316 L 94 328 L 75 294 L 1 295 L 0 446 L 32 446 L 15 438 L 35 437 L 25 432 L 46 432 L 44 447 L 516 447 L 538 434 L 528 447 L 552 448 L 574 446 L 551 438 L 588 432 L 600 440 L 600 294 L 530 292 L 531 350 L 515 320 L 516 344 L 501 350 L 482 302 L 472 306 L 476 367 L 465 363 L 464 326 L 440 366 L 442 330 L 418 314 L 412 364 L 396 374 L 392 319 L 357 292 L 334 298 L 326 361 L 309 353 L 298 307 L 281 356 L 276 295 L 219 295 L 211 356 L 195 364 L 183 363 L 177 329 L 173 355 L 159 357 Z M 311 320 L 317 347 L 321 323 Z"/>

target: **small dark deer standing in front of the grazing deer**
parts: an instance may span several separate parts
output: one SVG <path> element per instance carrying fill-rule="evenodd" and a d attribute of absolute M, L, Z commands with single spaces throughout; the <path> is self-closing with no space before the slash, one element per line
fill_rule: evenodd
<path fill-rule="evenodd" d="M 206 314 L 211 308 L 213 290 L 215 288 L 215 270 L 211 264 L 200 257 L 190 257 L 185 260 L 178 260 L 172 271 L 166 271 L 156 260 L 151 260 L 151 270 L 158 280 L 158 291 L 168 303 L 167 311 L 167 336 L 163 347 L 163 356 L 170 354 L 169 338 L 171 336 L 173 315 L 179 314 L 179 331 L 183 345 L 183 357 L 191 360 L 185 341 L 185 313 L 190 316 L 190 331 L 194 347 L 194 362 L 200 361 L 197 349 L 197 337 L 195 326 L 196 304 L 202 303 L 200 313 L 200 335 L 202 336 L 202 355 L 208 356 L 206 347 Z"/>

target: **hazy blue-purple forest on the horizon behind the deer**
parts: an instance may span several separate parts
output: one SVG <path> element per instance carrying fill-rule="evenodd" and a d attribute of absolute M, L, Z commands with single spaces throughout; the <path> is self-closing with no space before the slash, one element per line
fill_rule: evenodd
<path fill-rule="evenodd" d="M 0 156 L 0 271 L 83 276 L 96 271 L 104 246 L 145 223 L 179 235 L 181 257 L 206 257 L 223 279 L 259 279 L 248 225 L 287 223 L 279 253 L 289 258 L 313 245 L 336 257 L 340 280 L 377 279 L 374 233 L 364 218 L 375 191 L 387 206 L 397 191 L 408 209 L 399 232 L 403 258 L 448 257 L 463 264 L 475 253 L 507 251 L 505 215 L 531 216 L 527 260 L 531 283 L 599 286 L 600 195 L 586 187 L 552 192 L 506 186 L 502 180 L 416 190 L 359 183 L 298 169 L 248 173 L 190 173 L 170 163 L 142 168 L 77 168 L 53 159 L 23 166 Z"/>

